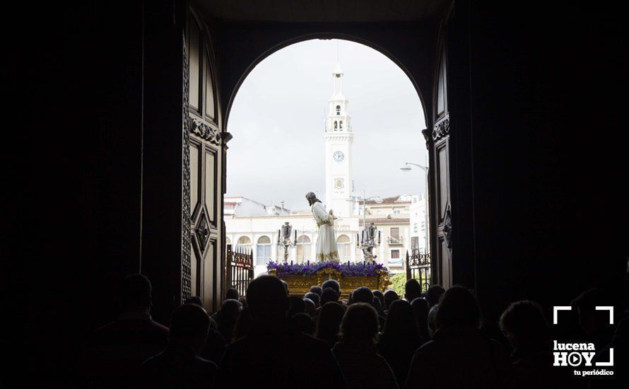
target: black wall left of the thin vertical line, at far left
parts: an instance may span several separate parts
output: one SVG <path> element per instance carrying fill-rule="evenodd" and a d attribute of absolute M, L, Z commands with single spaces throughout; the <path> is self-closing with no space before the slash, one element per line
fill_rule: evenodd
<path fill-rule="evenodd" d="M 141 3 L 16 7 L 4 25 L 23 34 L 8 56 L 16 196 L 3 306 L 16 320 L 3 320 L 0 384 L 23 369 L 27 382 L 70 376 L 85 335 L 117 314 L 122 275 L 139 269 Z"/>

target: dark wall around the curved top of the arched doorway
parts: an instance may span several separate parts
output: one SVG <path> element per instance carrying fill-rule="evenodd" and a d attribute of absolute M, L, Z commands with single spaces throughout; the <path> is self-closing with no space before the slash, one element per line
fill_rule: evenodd
<path fill-rule="evenodd" d="M 211 19 L 211 16 L 208 16 Z M 230 23 L 214 21 L 216 55 L 221 75 L 223 117 L 237 88 L 249 71 L 269 54 L 291 43 L 307 39 L 347 39 L 369 45 L 399 64 L 406 71 L 423 103 L 426 122 L 431 118 L 432 74 L 435 56 L 434 21 L 425 23 Z M 229 130 L 229 128 L 228 128 Z M 422 141 L 421 129 L 418 141 Z M 237 137 L 237 134 L 234 134 Z"/>

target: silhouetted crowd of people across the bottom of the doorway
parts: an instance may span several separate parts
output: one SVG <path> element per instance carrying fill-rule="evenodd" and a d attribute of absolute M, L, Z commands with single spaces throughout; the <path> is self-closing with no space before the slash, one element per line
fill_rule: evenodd
<path fill-rule="evenodd" d="M 541 306 L 517 301 L 500 317 L 508 342 L 482 329 L 481 310 L 463 286 L 423 291 L 414 279 L 404 296 L 363 286 L 341 298 L 333 279 L 304 296 L 271 276 L 252 280 L 246 296 L 230 289 L 209 315 L 192 297 L 170 327 L 151 319 L 151 282 L 124 279 L 122 314 L 96 330 L 78 364 L 81 383 L 148 388 L 598 388 L 612 381 L 575 378 L 553 366 L 551 330 Z M 627 316 L 609 325 L 590 289 L 572 306 L 594 360 L 609 349 L 625 363 Z M 575 339 L 576 340 L 576 339 Z M 618 364 L 616 365 L 618 372 Z M 598 379 L 597 379 L 598 378 Z M 613 381 L 616 382 L 616 381 Z"/>

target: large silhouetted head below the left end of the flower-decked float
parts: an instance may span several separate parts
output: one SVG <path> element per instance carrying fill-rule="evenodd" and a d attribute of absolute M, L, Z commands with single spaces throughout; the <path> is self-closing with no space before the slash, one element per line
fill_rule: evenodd
<path fill-rule="evenodd" d="M 247 304 L 255 322 L 274 322 L 286 318 L 290 301 L 280 279 L 262 275 L 247 288 Z"/>

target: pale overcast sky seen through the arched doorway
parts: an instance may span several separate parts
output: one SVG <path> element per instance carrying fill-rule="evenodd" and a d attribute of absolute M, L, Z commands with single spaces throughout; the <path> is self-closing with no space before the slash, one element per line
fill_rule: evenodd
<path fill-rule="evenodd" d="M 308 40 L 279 50 L 242 83 L 230 112 L 230 196 L 307 209 L 305 194 L 325 201 L 324 109 L 332 95 L 336 46 L 343 94 L 354 132 L 355 191 L 367 196 L 423 193 L 425 164 L 421 101 L 404 71 L 365 45 Z M 327 113 L 327 112 L 326 112 Z"/>

